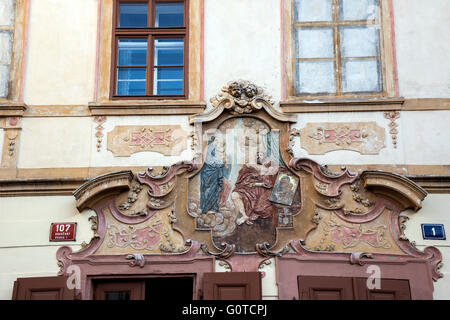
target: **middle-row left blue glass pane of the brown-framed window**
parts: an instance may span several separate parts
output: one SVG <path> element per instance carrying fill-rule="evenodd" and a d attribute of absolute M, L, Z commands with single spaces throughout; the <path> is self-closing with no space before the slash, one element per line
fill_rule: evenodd
<path fill-rule="evenodd" d="M 147 39 L 119 39 L 118 65 L 147 65 Z"/>

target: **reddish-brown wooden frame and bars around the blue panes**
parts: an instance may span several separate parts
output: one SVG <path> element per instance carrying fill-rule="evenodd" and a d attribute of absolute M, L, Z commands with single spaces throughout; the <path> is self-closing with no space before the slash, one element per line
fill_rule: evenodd
<path fill-rule="evenodd" d="M 119 27 L 119 5 L 124 2 L 142 2 L 148 4 L 147 27 Z M 154 27 L 156 2 L 183 2 L 184 26 L 183 27 Z M 118 95 L 117 94 L 117 70 L 118 68 L 118 43 L 120 38 L 147 38 L 147 63 L 146 63 L 146 94 L 145 95 Z M 155 39 L 183 38 L 183 90 L 180 95 L 155 95 L 154 82 L 154 40 Z M 189 95 L 189 0 L 114 0 L 111 34 L 111 76 L 110 99 L 111 100 L 184 100 Z M 181 66 L 177 66 L 181 67 Z M 143 68 L 138 67 L 138 68 Z"/>

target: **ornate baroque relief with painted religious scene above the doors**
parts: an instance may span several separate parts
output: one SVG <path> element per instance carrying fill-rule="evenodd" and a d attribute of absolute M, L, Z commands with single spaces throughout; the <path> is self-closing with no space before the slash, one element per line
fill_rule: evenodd
<path fill-rule="evenodd" d="M 74 192 L 80 211 L 95 211 L 96 236 L 78 252 L 58 250 L 60 274 L 72 264 L 85 277 L 106 264 L 138 265 L 142 272 L 177 264 L 183 273 L 197 272 L 198 263 L 211 272 L 215 259 L 230 271 L 257 271 L 276 257 L 277 266 L 400 261 L 420 265 L 434 280 L 442 276 L 439 250 L 412 246 L 399 218 L 420 209 L 427 195 L 421 187 L 389 172 L 333 172 L 293 158 L 297 116 L 277 111 L 263 89 L 247 81 L 230 82 L 211 101 L 210 112 L 189 119 L 193 161 L 106 174 Z M 364 139 L 362 133 L 351 137 Z"/>

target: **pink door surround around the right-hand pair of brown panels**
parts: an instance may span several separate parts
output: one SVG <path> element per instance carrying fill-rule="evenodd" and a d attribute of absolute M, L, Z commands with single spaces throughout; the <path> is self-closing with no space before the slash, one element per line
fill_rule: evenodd
<path fill-rule="evenodd" d="M 412 300 L 433 300 L 433 281 L 440 277 L 440 252 L 429 247 L 411 255 L 313 252 L 293 245 L 296 253 L 276 257 L 276 281 L 280 300 L 298 300 L 298 276 L 369 278 L 378 266 L 381 279 L 408 280 Z"/>

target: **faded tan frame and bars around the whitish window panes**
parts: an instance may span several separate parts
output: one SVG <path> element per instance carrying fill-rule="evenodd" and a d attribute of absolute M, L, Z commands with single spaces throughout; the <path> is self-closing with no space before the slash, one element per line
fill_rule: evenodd
<path fill-rule="evenodd" d="M 332 0 L 332 21 L 323 22 L 295 22 L 295 0 L 284 0 L 284 30 L 282 31 L 283 48 L 284 48 L 284 93 L 287 101 L 308 100 L 308 99 L 353 99 L 353 98 L 383 98 L 395 97 L 398 95 L 396 89 L 396 67 L 395 53 L 393 45 L 393 23 L 391 0 L 378 1 L 378 17 L 376 20 L 355 20 L 355 21 L 336 21 L 339 17 L 340 1 Z M 364 23 L 366 22 L 366 23 Z M 375 23 L 374 23 L 375 22 Z M 379 92 L 342 92 L 342 58 L 341 45 L 339 39 L 339 28 L 341 26 L 352 25 L 378 25 L 379 35 Z M 296 48 L 295 48 L 295 32 L 296 26 L 302 25 L 304 28 L 323 28 L 325 25 L 333 29 L 333 57 L 328 59 L 333 61 L 334 68 L 338 68 L 338 72 L 334 74 L 335 92 L 331 93 L 297 93 L 296 92 Z M 337 30 L 337 32 L 336 32 Z M 336 48 L 336 44 L 338 47 Z M 355 58 L 350 58 L 350 60 Z M 305 60 L 322 60 L 322 59 L 305 59 Z M 375 61 L 375 60 L 374 60 Z M 339 79 L 338 79 L 339 77 Z"/>

